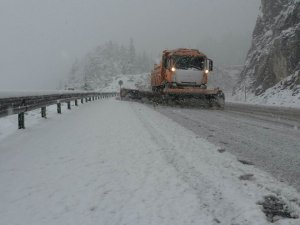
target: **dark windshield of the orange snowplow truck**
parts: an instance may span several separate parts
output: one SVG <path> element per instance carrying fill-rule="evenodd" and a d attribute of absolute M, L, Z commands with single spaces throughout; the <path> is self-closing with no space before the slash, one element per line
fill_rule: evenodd
<path fill-rule="evenodd" d="M 175 56 L 174 64 L 177 69 L 197 69 L 203 70 L 204 69 L 204 58 L 197 57 L 197 56 Z"/>

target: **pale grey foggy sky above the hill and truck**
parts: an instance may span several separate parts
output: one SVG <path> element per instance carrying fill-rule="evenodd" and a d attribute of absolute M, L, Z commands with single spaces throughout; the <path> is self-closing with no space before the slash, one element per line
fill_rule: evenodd
<path fill-rule="evenodd" d="M 0 0 L 0 90 L 54 89 L 76 58 L 112 40 L 158 57 L 205 51 L 241 64 L 260 0 Z"/>

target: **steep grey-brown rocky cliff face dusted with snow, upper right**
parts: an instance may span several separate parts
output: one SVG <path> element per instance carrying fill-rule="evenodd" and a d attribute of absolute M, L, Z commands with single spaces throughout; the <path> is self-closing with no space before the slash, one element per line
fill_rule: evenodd
<path fill-rule="evenodd" d="M 240 80 L 234 93 L 255 96 L 281 85 L 295 95 L 300 92 L 300 0 L 261 0 Z"/>

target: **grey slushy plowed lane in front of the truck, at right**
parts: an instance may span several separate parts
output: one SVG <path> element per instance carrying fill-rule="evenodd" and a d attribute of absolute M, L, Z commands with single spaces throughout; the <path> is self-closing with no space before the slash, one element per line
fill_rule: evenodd
<path fill-rule="evenodd" d="M 247 108 L 248 107 L 248 108 Z M 195 134 L 300 191 L 300 110 L 228 104 L 224 111 L 157 107 Z M 255 108 L 254 108 L 255 109 Z"/>

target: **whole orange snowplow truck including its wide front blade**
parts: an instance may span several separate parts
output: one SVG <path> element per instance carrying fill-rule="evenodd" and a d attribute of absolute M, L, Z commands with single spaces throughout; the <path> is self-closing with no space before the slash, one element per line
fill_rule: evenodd
<path fill-rule="evenodd" d="M 225 96 L 219 88 L 208 89 L 208 76 L 213 61 L 197 49 L 165 50 L 160 64 L 151 72 L 152 92 L 122 89 L 121 97 L 148 98 L 155 101 L 200 103 L 208 107 L 224 108 Z M 161 102 L 161 101 L 160 101 Z"/>

